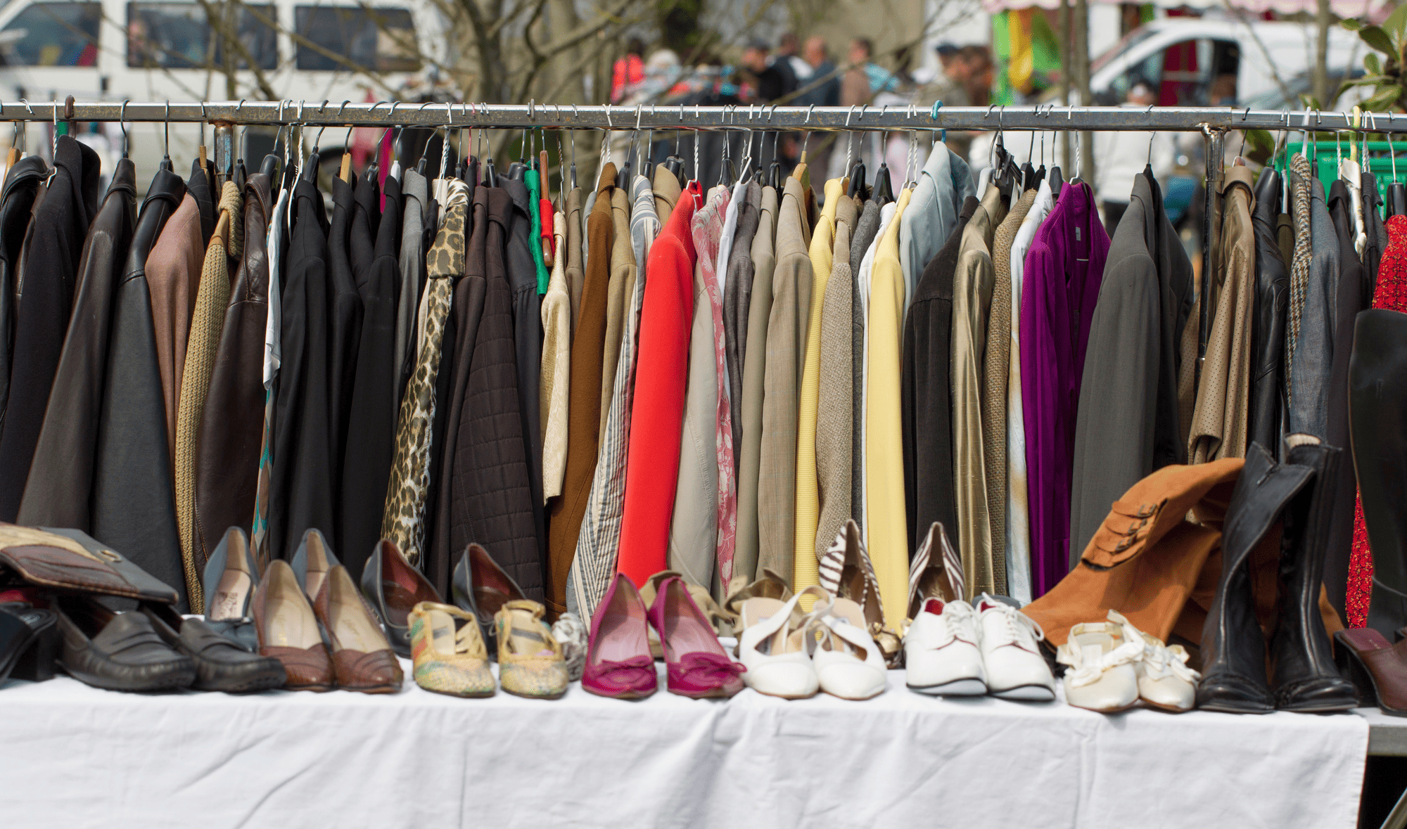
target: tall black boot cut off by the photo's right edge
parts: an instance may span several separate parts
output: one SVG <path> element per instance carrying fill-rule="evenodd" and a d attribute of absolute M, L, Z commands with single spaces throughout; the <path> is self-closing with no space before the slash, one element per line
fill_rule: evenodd
<path fill-rule="evenodd" d="M 1363 523 L 1373 548 L 1368 627 L 1407 625 L 1407 313 L 1365 311 L 1354 326 L 1348 416 Z"/>

